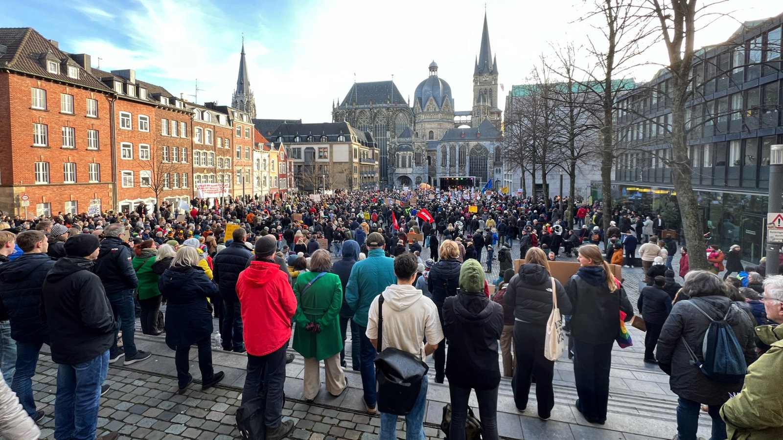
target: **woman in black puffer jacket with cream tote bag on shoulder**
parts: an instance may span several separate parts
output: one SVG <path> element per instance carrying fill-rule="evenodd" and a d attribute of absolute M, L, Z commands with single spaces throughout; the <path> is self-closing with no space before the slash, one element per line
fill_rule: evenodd
<path fill-rule="evenodd" d="M 514 403 L 524 411 L 528 406 L 531 377 L 536 377 L 539 418 L 547 420 L 554 407 L 554 361 L 544 357 L 547 321 L 552 312 L 552 276 L 547 255 L 539 247 L 525 254 L 525 264 L 508 283 L 505 304 L 514 308 L 514 352 L 517 371 L 514 377 Z M 571 301 L 560 281 L 554 280 L 557 308 L 561 315 L 571 314 Z"/>

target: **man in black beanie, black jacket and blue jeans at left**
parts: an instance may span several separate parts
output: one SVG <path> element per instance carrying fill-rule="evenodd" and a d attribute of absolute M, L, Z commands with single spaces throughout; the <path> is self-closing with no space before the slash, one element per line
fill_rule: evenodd
<path fill-rule="evenodd" d="M 66 240 L 66 257 L 52 266 L 42 288 L 52 360 L 58 364 L 55 438 L 96 438 L 101 384 L 117 330 L 103 283 L 91 270 L 99 244 L 90 234 Z"/>

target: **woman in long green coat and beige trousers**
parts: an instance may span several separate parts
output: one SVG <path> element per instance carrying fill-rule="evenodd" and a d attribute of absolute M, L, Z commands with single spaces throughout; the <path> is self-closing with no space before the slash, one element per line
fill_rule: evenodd
<path fill-rule="evenodd" d="M 339 276 L 330 273 L 331 266 L 329 251 L 319 249 L 310 258 L 310 271 L 300 273 L 294 283 L 294 350 L 305 358 L 303 392 L 308 403 L 321 389 L 320 361 L 331 395 L 340 395 L 347 387 L 340 366 L 342 284 Z"/>

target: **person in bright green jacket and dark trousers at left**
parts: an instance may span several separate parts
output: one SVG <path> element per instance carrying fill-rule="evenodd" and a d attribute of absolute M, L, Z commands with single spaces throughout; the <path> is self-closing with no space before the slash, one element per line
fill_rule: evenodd
<path fill-rule="evenodd" d="M 157 315 L 161 311 L 161 290 L 157 289 L 159 275 L 152 267 L 157 259 L 155 241 L 144 240 L 133 247 L 133 252 L 131 264 L 136 271 L 136 278 L 139 279 L 136 292 L 139 294 L 139 305 L 142 306 L 142 332 L 158 335 L 163 333 L 163 329 L 157 328 Z"/>

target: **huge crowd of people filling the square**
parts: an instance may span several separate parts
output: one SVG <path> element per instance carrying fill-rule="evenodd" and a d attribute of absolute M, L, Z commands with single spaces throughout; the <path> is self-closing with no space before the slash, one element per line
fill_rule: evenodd
<path fill-rule="evenodd" d="M 0 420 L 13 421 L 0 421 L 0 432 L 9 438 L 38 432 L 34 422 L 44 413 L 34 402 L 32 377 L 47 344 L 59 366 L 55 438 L 95 438 L 110 364 L 132 365 L 152 355 L 135 346 L 139 319 L 143 334 L 164 337 L 175 352 L 181 393 L 194 381 L 194 344 L 202 389 L 224 377 L 212 365 L 213 341 L 246 353 L 242 405 L 262 401 L 269 440 L 294 429 L 282 417 L 285 365 L 294 359 L 289 344 L 304 359 L 305 401 L 320 392 L 322 363 L 326 392 L 341 395 L 350 360 L 370 414 L 379 412 L 378 352 L 396 348 L 418 360 L 432 355 L 435 382 L 449 384 L 449 438 L 464 438 L 472 390 L 482 436 L 492 440 L 498 437 L 502 376 L 513 378 L 518 411 L 528 412 L 535 383 L 536 415 L 551 416 L 557 361 L 547 359 L 544 344 L 553 298 L 570 338 L 576 409 L 590 423 L 604 424 L 619 316 L 634 316 L 623 280 L 609 264 L 637 265 L 637 245 L 644 243 L 638 255 L 647 287 L 636 310 L 647 328 L 644 361 L 671 376 L 680 398 L 676 438 L 696 438 L 702 405 L 713 417 L 714 440 L 727 438 L 727 431 L 781 438 L 780 399 L 764 397 L 766 413 L 754 406 L 759 396 L 773 393 L 770 380 L 778 376 L 770 376 L 779 375 L 783 362 L 783 334 L 774 326 L 783 323 L 783 276 L 765 280 L 763 266 L 742 268 L 738 247 L 727 256 L 711 247 L 713 267 L 690 270 L 683 246 L 680 285 L 672 265 L 679 244 L 660 215 L 643 218 L 622 207 L 606 230 L 602 217 L 600 204 L 464 189 L 338 190 L 286 200 L 194 199 L 187 207 L 162 204 L 157 212 L 139 207 L 5 217 L 0 411 L 9 416 Z M 518 269 L 511 256 L 515 244 L 525 260 Z M 423 257 L 424 248 L 430 258 Z M 561 253 L 579 261 L 565 285 L 550 269 Z M 500 276 L 488 279 L 494 264 Z M 721 280 L 717 273 L 724 269 Z M 693 304 L 706 313 L 695 313 Z M 725 320 L 742 346 L 750 371 L 745 388 L 742 380 L 717 383 L 691 362 L 691 352 L 698 359 L 706 355 L 702 340 L 713 320 Z M 762 352 L 767 354 L 759 357 Z M 425 376 L 405 416 L 406 438 L 424 438 L 427 392 Z M 729 393 L 738 395 L 729 399 Z M 397 438 L 398 416 L 381 411 L 380 417 L 379 438 Z M 771 436 L 753 437 L 757 432 Z"/>

